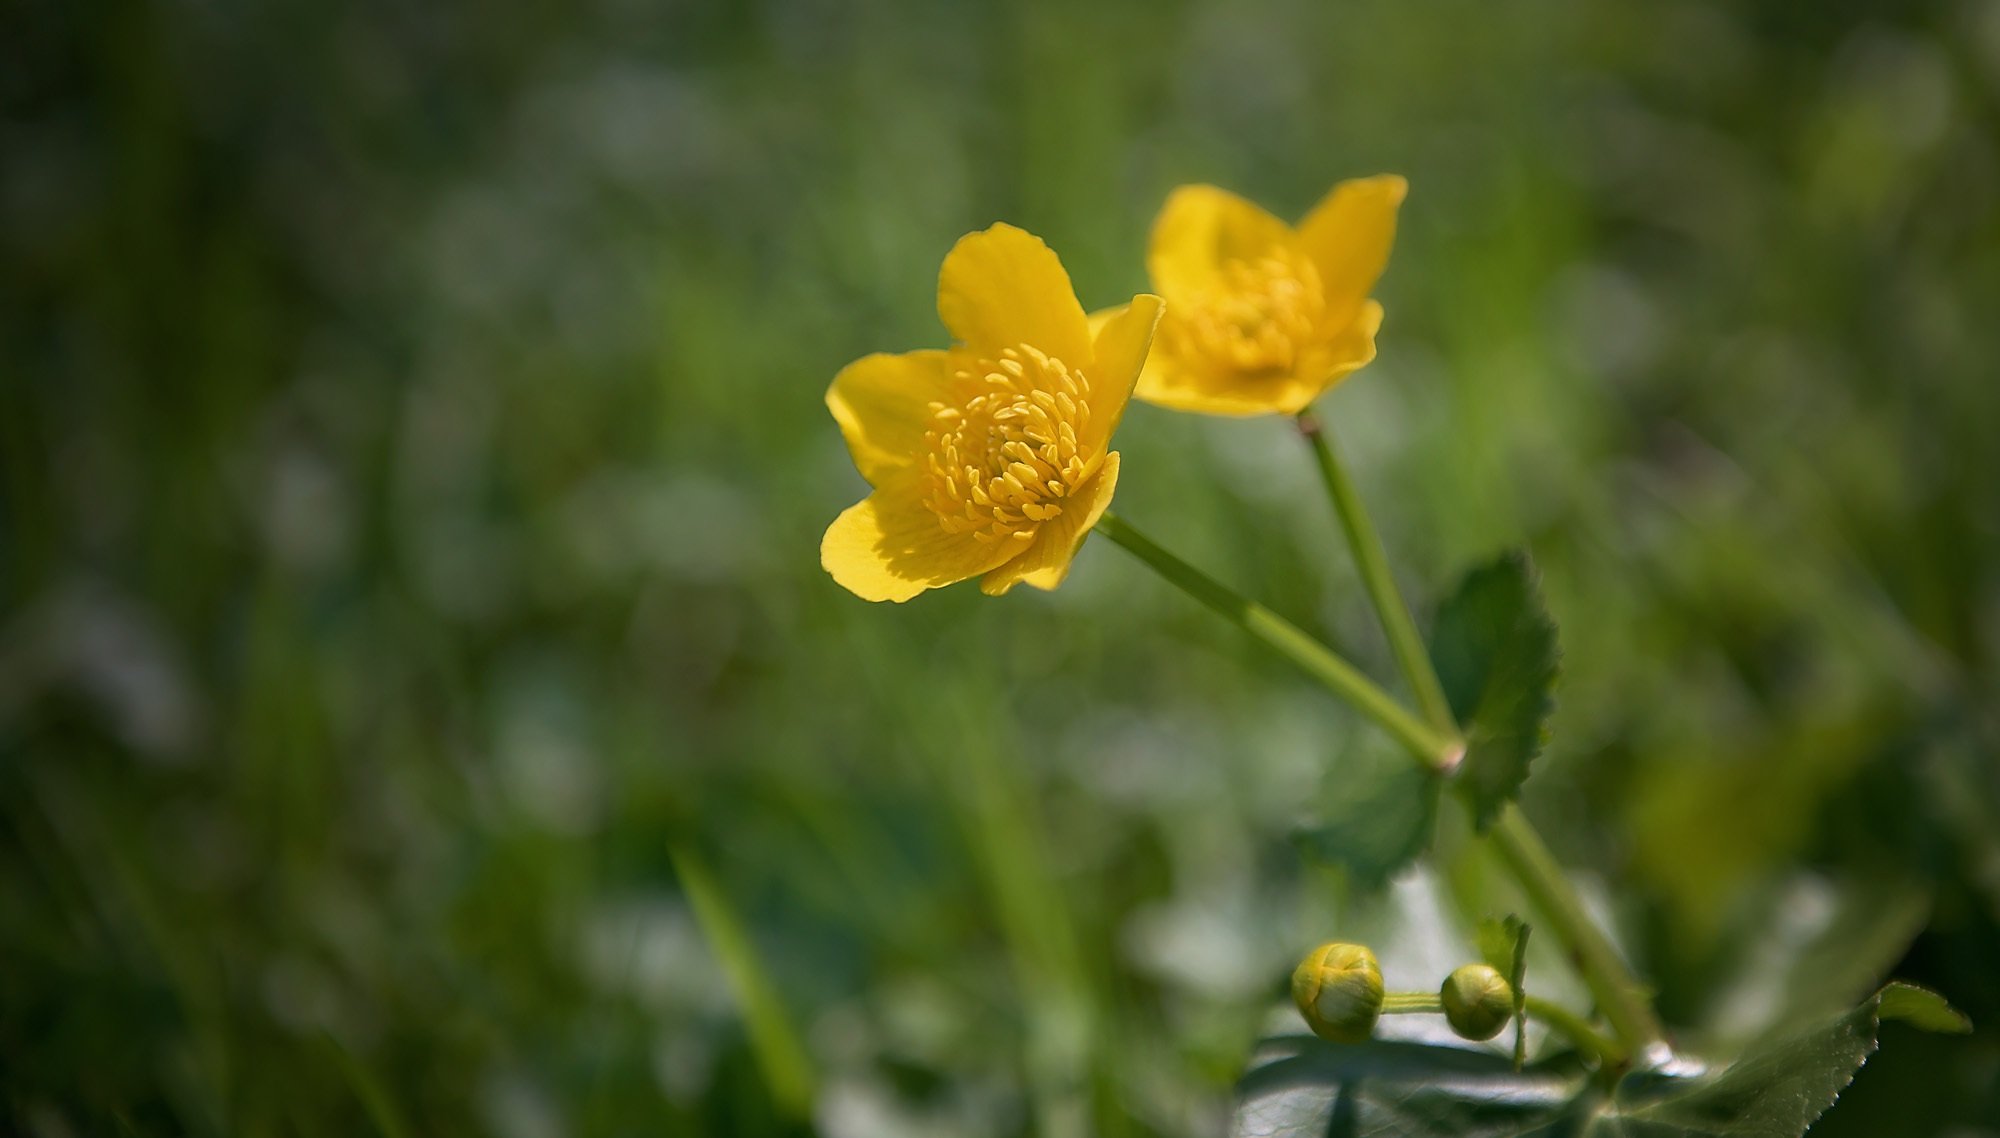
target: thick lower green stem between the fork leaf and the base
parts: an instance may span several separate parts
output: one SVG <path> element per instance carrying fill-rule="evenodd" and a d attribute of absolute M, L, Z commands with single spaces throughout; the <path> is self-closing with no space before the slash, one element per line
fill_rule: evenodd
<path fill-rule="evenodd" d="M 1514 880 L 1540 910 L 1550 932 L 1568 948 L 1570 964 L 1590 986 L 1598 1012 L 1604 1014 L 1624 1050 L 1644 1054 L 1658 1044 L 1662 1040 L 1660 1020 L 1652 1014 L 1646 988 L 1626 968 L 1610 938 L 1584 912 L 1584 904 L 1562 874 L 1562 866 L 1542 844 L 1542 836 L 1534 832 L 1520 804 L 1508 802 L 1486 836 L 1492 838 L 1502 862 L 1514 872 Z"/>

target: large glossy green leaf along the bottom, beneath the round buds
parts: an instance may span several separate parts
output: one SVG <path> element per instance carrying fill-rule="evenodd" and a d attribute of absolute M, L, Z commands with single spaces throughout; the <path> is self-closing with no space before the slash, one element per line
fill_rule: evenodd
<path fill-rule="evenodd" d="M 1610 1094 L 1574 1056 L 1516 1072 L 1488 1050 L 1278 1036 L 1258 1048 L 1238 1086 L 1230 1136 L 1798 1138 L 1876 1050 L 1882 1020 L 1968 1030 L 1936 992 L 1890 984 L 1858 1008 L 1754 1046 L 1724 1068 L 1630 1074 Z M 1698 1070 L 1686 1060 L 1676 1066 Z"/>

